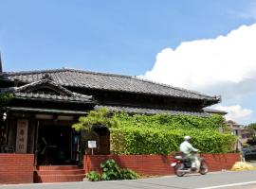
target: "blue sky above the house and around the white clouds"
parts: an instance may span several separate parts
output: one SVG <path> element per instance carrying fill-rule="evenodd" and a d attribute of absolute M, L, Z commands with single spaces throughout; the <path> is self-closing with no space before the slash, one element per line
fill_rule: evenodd
<path fill-rule="evenodd" d="M 3 67 L 4 71 L 69 67 L 143 77 L 154 71 L 156 56 L 164 49 L 253 25 L 255 7 L 250 0 L 0 0 Z M 160 82 L 178 83 L 167 77 Z M 218 83 L 214 86 L 216 94 L 225 92 L 218 90 Z M 181 87 L 215 94 L 200 86 Z M 255 91 L 225 93 L 222 107 L 251 111 L 236 121 L 256 122 Z"/>

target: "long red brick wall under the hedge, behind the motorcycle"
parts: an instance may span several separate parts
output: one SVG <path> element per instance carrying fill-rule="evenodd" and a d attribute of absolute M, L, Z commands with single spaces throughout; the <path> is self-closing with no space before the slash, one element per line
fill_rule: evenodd
<path fill-rule="evenodd" d="M 229 154 L 203 154 L 210 166 L 210 171 L 230 169 L 232 164 L 240 161 L 240 155 Z M 91 170 L 101 172 L 101 162 L 107 159 L 114 159 L 120 167 L 130 168 L 137 173 L 144 175 L 171 175 L 174 174 L 172 156 L 164 155 L 85 155 L 83 168 L 85 172 Z"/>

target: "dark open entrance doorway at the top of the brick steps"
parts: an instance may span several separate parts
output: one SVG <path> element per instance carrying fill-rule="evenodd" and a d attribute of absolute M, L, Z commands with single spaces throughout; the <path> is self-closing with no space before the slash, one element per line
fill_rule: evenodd
<path fill-rule="evenodd" d="M 68 126 L 39 126 L 37 164 L 71 163 L 72 129 Z"/>

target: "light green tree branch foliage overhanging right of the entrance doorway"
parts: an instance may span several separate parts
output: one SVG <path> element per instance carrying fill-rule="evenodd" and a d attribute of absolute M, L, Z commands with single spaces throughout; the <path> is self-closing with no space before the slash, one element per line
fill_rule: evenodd
<path fill-rule="evenodd" d="M 77 131 L 85 130 L 90 132 L 94 126 L 105 126 L 108 128 L 119 127 L 119 122 L 107 109 L 101 108 L 98 111 L 90 111 L 87 116 L 79 118 L 79 122 L 72 126 Z"/>

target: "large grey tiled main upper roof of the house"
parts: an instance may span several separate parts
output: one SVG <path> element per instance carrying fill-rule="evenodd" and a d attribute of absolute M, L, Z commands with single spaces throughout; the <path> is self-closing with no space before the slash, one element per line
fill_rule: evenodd
<path fill-rule="evenodd" d="M 45 71 L 4 73 L 10 80 L 18 79 L 22 82 L 34 82 L 49 75 L 52 80 L 62 86 L 91 88 L 100 90 L 120 91 L 136 94 L 154 94 L 219 102 L 220 97 L 200 94 L 185 89 L 159 84 L 138 77 L 113 74 L 103 74 L 74 69 L 56 69 Z"/>

